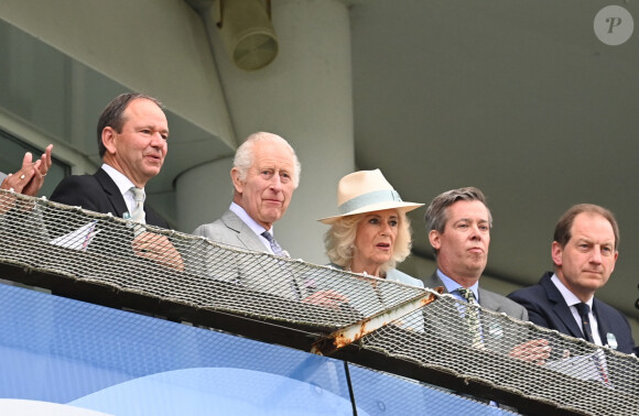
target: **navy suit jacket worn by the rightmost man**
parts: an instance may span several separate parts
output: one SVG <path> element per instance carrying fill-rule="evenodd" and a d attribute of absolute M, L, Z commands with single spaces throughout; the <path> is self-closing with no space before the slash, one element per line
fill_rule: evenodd
<path fill-rule="evenodd" d="M 515 291 L 508 297 L 528 309 L 532 322 L 575 338 L 584 338 L 568 305 L 552 283 L 552 272 L 548 272 L 539 284 Z M 624 314 L 597 298 L 593 299 L 593 311 L 597 317 L 602 341 L 607 344 L 608 333 L 611 333 L 617 340 L 617 351 L 632 353 L 635 341 Z"/>

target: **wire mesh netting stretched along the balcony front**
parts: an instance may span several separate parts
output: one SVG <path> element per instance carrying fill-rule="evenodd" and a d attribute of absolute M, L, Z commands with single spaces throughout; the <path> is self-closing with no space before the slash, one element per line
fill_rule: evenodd
<path fill-rule="evenodd" d="M 356 342 L 360 352 L 375 352 L 414 369 L 433 369 L 497 392 L 484 398 L 516 395 L 588 415 L 639 412 L 636 357 L 450 295 L 223 247 L 201 237 L 8 191 L 0 193 L 0 264 L 25 274 L 64 276 L 195 310 L 277 322 L 303 330 L 311 342 L 360 326 L 362 338 Z M 334 300 L 335 294 L 340 302 Z M 366 330 L 371 318 L 426 295 L 435 300 L 379 329 Z M 247 335 L 241 328 L 237 333 Z M 278 343 L 289 344 L 285 339 Z M 540 359 L 543 346 L 552 350 Z"/>

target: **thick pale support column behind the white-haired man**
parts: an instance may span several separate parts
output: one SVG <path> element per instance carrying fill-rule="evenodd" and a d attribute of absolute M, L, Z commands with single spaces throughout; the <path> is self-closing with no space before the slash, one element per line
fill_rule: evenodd
<path fill-rule="evenodd" d="M 278 241 L 293 258 L 324 264 L 327 228 L 316 219 L 337 212 L 337 182 L 355 160 L 348 9 L 337 0 L 278 0 L 272 22 L 279 54 L 268 67 L 237 68 L 219 36 L 213 36 L 215 58 L 238 140 L 257 131 L 279 134 L 302 163 L 300 187 L 274 225 Z M 210 222 L 230 204 L 230 165 L 224 174 L 215 166 L 192 171 L 177 180 L 180 221 Z"/>

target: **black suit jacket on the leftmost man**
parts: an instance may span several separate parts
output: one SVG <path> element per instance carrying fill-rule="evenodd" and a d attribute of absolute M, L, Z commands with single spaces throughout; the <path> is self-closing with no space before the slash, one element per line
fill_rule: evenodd
<path fill-rule="evenodd" d="M 111 212 L 118 218 L 122 218 L 124 212 L 129 211 L 120 189 L 101 168 L 93 175 L 67 176 L 57 185 L 50 199 L 54 202 L 79 206 L 96 212 Z M 148 225 L 171 228 L 147 204 L 144 204 L 144 212 Z"/>

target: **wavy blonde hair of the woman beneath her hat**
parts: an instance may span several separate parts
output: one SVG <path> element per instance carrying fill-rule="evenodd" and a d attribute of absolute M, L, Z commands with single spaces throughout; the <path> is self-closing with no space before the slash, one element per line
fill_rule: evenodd
<path fill-rule="evenodd" d="M 392 258 L 381 266 L 382 273 L 394 269 L 397 264 L 403 262 L 411 253 L 410 220 L 404 211 L 399 209 L 397 211 L 399 219 L 398 234 L 392 250 Z M 357 226 L 367 215 L 370 215 L 370 212 L 342 217 L 333 222 L 328 231 L 326 231 L 324 234 L 324 245 L 326 248 L 326 255 L 333 263 L 345 269 L 350 266 L 355 254 Z"/>

